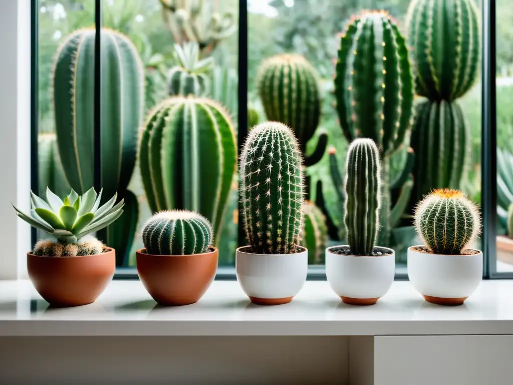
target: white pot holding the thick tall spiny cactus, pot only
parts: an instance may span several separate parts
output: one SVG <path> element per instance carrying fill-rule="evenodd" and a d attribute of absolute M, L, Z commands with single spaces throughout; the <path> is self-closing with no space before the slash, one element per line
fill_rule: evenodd
<path fill-rule="evenodd" d="M 292 300 L 306 281 L 308 251 L 294 254 L 253 254 L 248 246 L 239 247 L 235 271 L 242 290 L 251 302 L 279 305 Z"/>

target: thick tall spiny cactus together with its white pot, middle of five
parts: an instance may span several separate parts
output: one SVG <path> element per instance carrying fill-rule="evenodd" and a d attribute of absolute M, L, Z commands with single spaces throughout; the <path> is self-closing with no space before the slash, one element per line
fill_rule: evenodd
<path fill-rule="evenodd" d="M 290 302 L 306 280 L 301 152 L 291 129 L 278 122 L 255 126 L 241 162 L 241 209 L 249 246 L 235 256 L 237 280 L 253 303 Z"/>

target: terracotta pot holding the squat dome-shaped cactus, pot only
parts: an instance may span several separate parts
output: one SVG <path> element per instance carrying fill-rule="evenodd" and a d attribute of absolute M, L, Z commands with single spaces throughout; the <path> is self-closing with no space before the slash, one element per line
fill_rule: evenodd
<path fill-rule="evenodd" d="M 192 255 L 153 255 L 137 250 L 137 273 L 153 299 L 161 305 L 197 302 L 214 280 L 219 251 Z"/>

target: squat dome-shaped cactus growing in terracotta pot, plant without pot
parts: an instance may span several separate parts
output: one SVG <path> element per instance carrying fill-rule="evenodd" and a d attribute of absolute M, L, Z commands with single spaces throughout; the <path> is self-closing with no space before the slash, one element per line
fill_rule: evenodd
<path fill-rule="evenodd" d="M 206 253 L 212 240 L 210 222 L 189 210 L 160 211 L 143 226 L 143 243 L 148 254 Z"/>

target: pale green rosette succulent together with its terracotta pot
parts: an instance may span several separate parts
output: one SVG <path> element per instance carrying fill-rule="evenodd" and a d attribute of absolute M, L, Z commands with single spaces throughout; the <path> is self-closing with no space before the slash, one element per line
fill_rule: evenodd
<path fill-rule="evenodd" d="M 100 206 L 102 190 L 90 188 L 79 196 L 73 189 L 64 201 L 49 188 L 46 201 L 31 192 L 30 215 L 17 216 L 56 240 L 38 241 L 27 253 L 29 278 L 37 292 L 53 306 L 77 306 L 94 302 L 105 290 L 115 270 L 115 251 L 88 235 L 123 214 L 117 194 Z"/>

